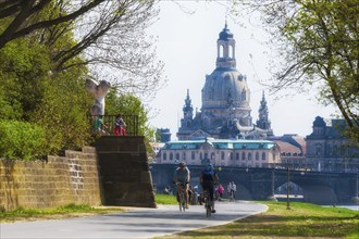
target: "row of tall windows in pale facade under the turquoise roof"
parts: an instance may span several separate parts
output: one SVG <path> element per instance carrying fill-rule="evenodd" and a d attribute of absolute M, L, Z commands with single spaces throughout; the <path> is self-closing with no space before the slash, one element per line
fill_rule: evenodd
<path fill-rule="evenodd" d="M 177 152 L 177 153 L 173 153 L 173 152 L 162 152 L 162 159 L 164 161 L 168 160 L 168 156 L 169 156 L 169 160 L 172 161 L 172 160 L 187 160 L 187 153 L 186 152 Z M 226 153 L 225 152 L 221 152 L 221 160 L 226 160 Z M 215 153 L 212 152 L 212 153 L 207 153 L 207 152 L 199 152 L 199 160 L 206 160 L 206 159 L 211 159 L 211 160 L 214 160 L 215 159 Z M 230 155 L 228 155 L 228 159 L 230 160 L 252 160 L 252 153 L 251 152 L 242 152 L 240 153 L 233 153 L 231 152 Z M 196 160 L 196 151 L 190 151 L 190 160 Z M 256 152 L 255 153 L 255 160 L 262 160 L 262 161 L 265 161 L 267 160 L 267 156 L 265 156 L 265 152 L 262 152 L 261 154 L 259 152 Z"/>

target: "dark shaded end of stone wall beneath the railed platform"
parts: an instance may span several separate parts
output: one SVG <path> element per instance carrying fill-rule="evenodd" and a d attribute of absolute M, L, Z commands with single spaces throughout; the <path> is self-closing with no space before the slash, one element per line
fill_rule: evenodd
<path fill-rule="evenodd" d="M 144 136 L 106 136 L 96 140 L 103 204 L 156 207 Z"/>

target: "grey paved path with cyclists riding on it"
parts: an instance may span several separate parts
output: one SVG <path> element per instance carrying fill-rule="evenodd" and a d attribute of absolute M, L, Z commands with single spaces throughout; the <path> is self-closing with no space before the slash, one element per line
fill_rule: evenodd
<path fill-rule="evenodd" d="M 206 216 L 203 205 L 180 212 L 177 205 L 131 209 L 106 215 L 0 224 L 0 238 L 152 238 L 227 224 L 268 210 L 263 204 L 236 201 L 216 202 L 216 213 Z"/>

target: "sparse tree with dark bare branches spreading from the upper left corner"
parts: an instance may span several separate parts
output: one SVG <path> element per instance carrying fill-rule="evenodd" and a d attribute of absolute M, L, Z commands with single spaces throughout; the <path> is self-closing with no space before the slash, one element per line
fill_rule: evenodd
<path fill-rule="evenodd" d="M 0 49 L 15 39 L 36 36 L 53 50 L 52 72 L 83 64 L 122 91 L 151 96 L 163 84 L 163 63 L 157 61 L 154 41 L 145 34 L 158 14 L 154 3 L 156 0 L 2 0 Z M 63 35 L 76 40 L 57 45 Z M 77 56 L 83 61 L 71 61 Z"/>

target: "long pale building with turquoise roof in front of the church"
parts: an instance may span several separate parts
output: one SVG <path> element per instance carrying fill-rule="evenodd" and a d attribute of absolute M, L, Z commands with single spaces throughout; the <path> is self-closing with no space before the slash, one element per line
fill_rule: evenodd
<path fill-rule="evenodd" d="M 269 140 L 203 139 L 166 142 L 157 154 L 157 163 L 216 166 L 275 167 L 280 150 Z"/>

